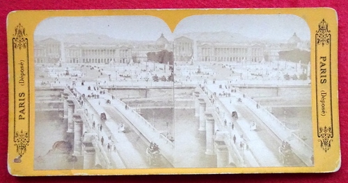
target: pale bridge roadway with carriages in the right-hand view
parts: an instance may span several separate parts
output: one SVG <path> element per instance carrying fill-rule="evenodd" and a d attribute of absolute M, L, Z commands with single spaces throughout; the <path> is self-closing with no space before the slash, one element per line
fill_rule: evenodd
<path fill-rule="evenodd" d="M 216 92 L 219 94 L 223 89 L 219 89 L 214 85 L 207 85 L 209 96 Z M 238 119 L 235 121 L 235 128 L 242 132 L 243 139 L 248 144 L 253 157 L 260 166 L 306 166 L 301 162 L 299 157 L 295 157 L 292 164 L 284 165 L 280 162 L 278 147 L 281 146 L 280 140 L 274 132 L 264 124 L 264 122 L 243 103 L 237 102 L 237 96 L 232 93 L 231 97 L 219 97 L 215 103 L 219 107 L 221 116 L 232 120 L 230 114 L 232 111 L 237 111 Z M 257 130 L 251 130 L 251 123 L 254 121 L 257 125 Z M 239 143 L 241 138 L 237 137 Z M 248 161 L 246 157 L 246 161 Z"/>

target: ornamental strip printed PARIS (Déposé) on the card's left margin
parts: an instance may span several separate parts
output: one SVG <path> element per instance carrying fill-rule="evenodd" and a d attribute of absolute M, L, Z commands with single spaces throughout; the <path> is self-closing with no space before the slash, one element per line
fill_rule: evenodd
<path fill-rule="evenodd" d="M 13 142 L 17 148 L 17 157 L 13 159 L 15 163 L 21 163 L 21 158 L 26 153 L 27 146 L 30 146 L 30 85 L 29 85 L 29 41 L 25 33 L 25 28 L 22 24 L 15 26 L 12 38 L 13 46 L 13 100 L 15 106 L 22 106 L 22 109 L 15 107 L 13 110 L 13 123 L 15 129 L 13 130 Z M 18 76 L 22 83 L 18 82 Z M 27 97 L 24 97 L 27 96 Z M 18 98 L 17 98 L 18 97 Z M 25 107 L 24 107 L 25 106 Z M 27 110 L 28 112 L 21 112 L 20 110 Z M 19 115 L 21 117 L 19 118 Z M 20 123 L 19 123 L 20 121 Z M 23 123 L 26 122 L 26 123 Z"/>

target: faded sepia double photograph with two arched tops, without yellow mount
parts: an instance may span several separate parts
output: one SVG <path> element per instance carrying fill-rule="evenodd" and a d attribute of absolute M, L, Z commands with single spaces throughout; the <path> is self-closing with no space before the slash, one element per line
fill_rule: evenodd
<path fill-rule="evenodd" d="M 296 15 L 49 17 L 34 34 L 39 170 L 315 166 Z"/>

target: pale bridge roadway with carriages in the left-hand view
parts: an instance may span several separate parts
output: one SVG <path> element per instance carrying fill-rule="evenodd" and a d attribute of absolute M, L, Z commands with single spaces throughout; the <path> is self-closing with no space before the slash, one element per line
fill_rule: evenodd
<path fill-rule="evenodd" d="M 79 92 L 79 94 L 88 95 L 93 92 L 91 90 L 87 90 L 87 87 L 83 86 L 75 87 L 75 89 L 77 89 L 77 92 Z M 111 105 L 106 104 L 106 100 L 110 100 Z M 87 98 L 86 101 L 87 104 L 85 105 L 89 106 L 88 111 L 93 111 L 93 119 L 100 121 L 100 113 L 106 113 L 106 121 L 100 121 L 99 123 L 103 125 L 103 129 L 105 129 L 106 133 L 106 137 L 104 137 L 104 146 L 106 146 L 107 143 L 116 145 L 119 157 L 113 158 L 120 158 L 125 168 L 154 167 L 150 166 L 150 164 L 146 162 L 146 148 L 150 146 L 150 141 L 155 141 L 157 144 L 159 144 L 162 153 L 161 164 L 157 166 L 160 166 L 161 168 L 173 168 L 171 162 L 167 160 L 169 154 L 168 151 L 171 152 L 171 149 L 166 149 L 166 146 L 161 146 L 161 142 L 163 143 L 164 137 L 162 137 L 161 139 L 161 137 L 159 137 L 159 134 L 152 136 L 148 135 L 148 133 L 155 133 L 155 130 L 149 128 L 148 126 L 145 126 L 145 124 L 140 125 L 140 128 L 139 124 L 134 124 L 134 122 L 136 121 L 130 120 L 132 119 L 132 114 L 129 114 L 129 112 L 133 112 L 132 109 L 125 110 L 125 107 L 122 107 L 122 112 L 120 112 L 120 106 L 116 107 L 116 100 L 112 100 L 109 94 L 102 94 L 100 95 L 100 98 Z M 125 124 L 125 132 L 118 132 L 118 126 L 120 123 Z M 99 124 L 96 124 L 96 128 Z M 110 136 L 112 136 L 111 140 L 109 139 Z M 99 139 L 100 138 L 101 137 L 99 137 Z M 167 156 L 163 156 L 164 154 Z"/>

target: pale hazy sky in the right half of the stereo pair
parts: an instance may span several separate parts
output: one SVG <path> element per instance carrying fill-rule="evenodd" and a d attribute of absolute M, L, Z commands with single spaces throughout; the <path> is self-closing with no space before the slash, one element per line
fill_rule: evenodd
<path fill-rule="evenodd" d="M 196 15 L 180 21 L 175 33 L 227 31 L 262 40 L 310 40 L 306 21 L 296 15 Z"/>

